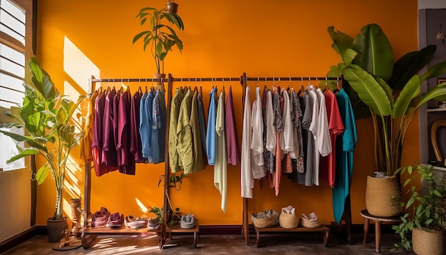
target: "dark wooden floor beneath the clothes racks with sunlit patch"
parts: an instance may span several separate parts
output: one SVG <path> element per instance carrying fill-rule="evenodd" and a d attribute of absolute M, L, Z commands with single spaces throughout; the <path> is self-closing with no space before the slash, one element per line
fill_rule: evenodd
<path fill-rule="evenodd" d="M 256 247 L 255 234 L 250 235 L 249 246 L 242 235 L 200 235 L 197 249 L 194 249 L 193 235 L 174 235 L 167 239 L 163 249 L 158 249 L 156 236 L 98 236 L 90 249 L 78 248 L 72 251 L 53 251 L 54 244 L 48 243 L 47 236 L 35 236 L 4 254 L 377 254 L 373 234 L 363 244 L 363 235 L 353 235 L 353 245 L 331 233 L 328 246 L 323 246 L 321 233 L 287 233 L 261 235 L 261 246 Z M 383 234 L 381 254 L 413 254 L 412 251 L 390 251 L 398 241 L 396 234 Z"/>

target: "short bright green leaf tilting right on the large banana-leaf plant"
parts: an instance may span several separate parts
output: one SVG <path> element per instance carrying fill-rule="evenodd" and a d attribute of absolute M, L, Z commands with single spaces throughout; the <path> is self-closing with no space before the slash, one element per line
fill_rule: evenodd
<path fill-rule="evenodd" d="M 393 107 L 393 118 L 399 118 L 406 113 L 409 108 L 410 101 L 420 94 L 420 78 L 418 75 L 410 78 L 408 83 L 401 90 L 400 95 L 396 99 Z"/>

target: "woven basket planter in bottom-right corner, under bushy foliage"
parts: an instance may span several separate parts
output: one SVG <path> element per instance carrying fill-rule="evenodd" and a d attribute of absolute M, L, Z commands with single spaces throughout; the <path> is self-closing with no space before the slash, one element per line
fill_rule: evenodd
<path fill-rule="evenodd" d="M 445 254 L 445 231 L 412 230 L 413 252 L 418 255 Z"/>

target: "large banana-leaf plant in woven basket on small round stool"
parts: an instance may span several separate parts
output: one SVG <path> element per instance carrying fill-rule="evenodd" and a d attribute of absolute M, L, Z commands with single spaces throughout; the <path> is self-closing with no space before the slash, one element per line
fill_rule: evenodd
<path fill-rule="evenodd" d="M 371 115 L 375 136 L 375 162 L 386 178 L 368 177 L 365 204 L 370 214 L 393 217 L 400 214 L 400 180 L 393 176 L 401 166 L 406 133 L 415 113 L 427 101 L 446 95 L 440 83 L 420 95 L 425 80 L 446 72 L 446 61 L 418 72 L 432 59 L 435 46 L 406 53 L 393 60 L 390 41 L 377 24 L 368 24 L 356 38 L 328 27 L 332 48 L 343 62 L 332 66 L 328 76 L 343 75 L 356 117 Z M 390 192 L 394 192 L 390 194 Z M 384 201 L 385 200 L 385 201 Z"/>

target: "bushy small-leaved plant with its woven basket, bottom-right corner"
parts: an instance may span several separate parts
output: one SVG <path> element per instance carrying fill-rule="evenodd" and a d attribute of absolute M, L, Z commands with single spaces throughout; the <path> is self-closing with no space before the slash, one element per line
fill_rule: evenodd
<path fill-rule="evenodd" d="M 394 249 L 411 249 L 420 254 L 445 254 L 445 221 L 446 221 L 446 177 L 437 178 L 432 165 L 415 165 L 403 167 L 395 173 L 407 173 L 408 179 L 403 187 L 408 187 L 410 197 L 402 202 L 405 209 L 412 209 L 412 213 L 405 213 L 401 217 L 401 224 L 393 226 L 400 234 L 401 241 Z M 418 191 L 413 181 L 422 180 L 422 190 Z M 436 179 L 440 179 L 437 180 Z M 412 240 L 408 238 L 412 231 Z"/>

